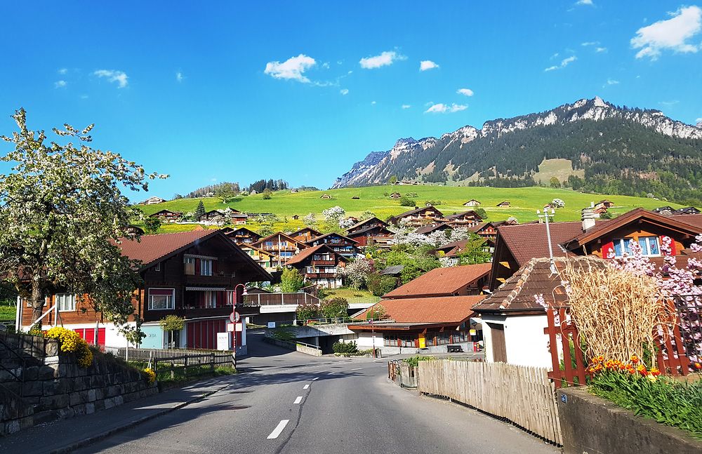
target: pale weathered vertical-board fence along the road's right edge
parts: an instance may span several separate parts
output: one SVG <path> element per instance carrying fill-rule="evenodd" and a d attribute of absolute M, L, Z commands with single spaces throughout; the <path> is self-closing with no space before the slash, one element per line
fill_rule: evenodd
<path fill-rule="evenodd" d="M 547 368 L 470 361 L 419 361 L 419 392 L 443 396 L 562 444 Z"/>

